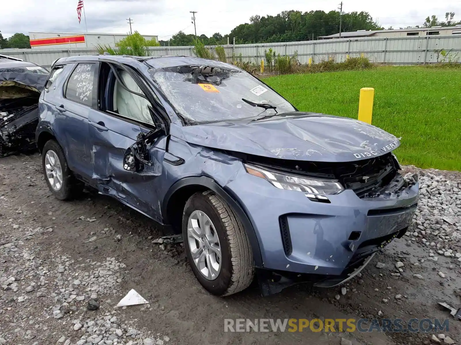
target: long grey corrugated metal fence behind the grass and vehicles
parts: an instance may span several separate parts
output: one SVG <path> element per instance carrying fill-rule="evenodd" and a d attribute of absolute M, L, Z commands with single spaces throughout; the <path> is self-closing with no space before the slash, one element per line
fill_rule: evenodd
<path fill-rule="evenodd" d="M 193 55 L 193 46 L 150 47 L 152 56 Z M 406 38 L 365 38 L 316 40 L 286 43 L 259 43 L 224 46 L 229 61 L 231 57 L 242 54 L 243 61 L 259 64 L 264 58 L 264 51 L 272 48 L 276 54 L 293 55 L 298 53 L 298 60 L 306 64 L 309 57 L 314 63 L 333 58 L 344 61 L 346 56 L 359 57 L 363 53 L 373 63 L 393 65 L 437 63 L 443 58 L 440 50 L 448 52 L 448 59 L 461 61 L 461 36 L 406 37 Z M 439 52 L 437 52 L 439 51 Z M 95 48 L 47 48 L 47 49 L 2 49 L 0 54 L 18 57 L 25 61 L 49 67 L 59 57 L 76 55 L 95 55 Z M 438 60 L 437 60 L 438 59 Z"/>

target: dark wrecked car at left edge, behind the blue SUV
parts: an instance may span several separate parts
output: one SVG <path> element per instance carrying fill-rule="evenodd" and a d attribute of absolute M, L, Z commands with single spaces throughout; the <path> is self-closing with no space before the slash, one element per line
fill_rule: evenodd
<path fill-rule="evenodd" d="M 0 157 L 36 150 L 38 98 L 47 77 L 35 63 L 0 55 Z"/>

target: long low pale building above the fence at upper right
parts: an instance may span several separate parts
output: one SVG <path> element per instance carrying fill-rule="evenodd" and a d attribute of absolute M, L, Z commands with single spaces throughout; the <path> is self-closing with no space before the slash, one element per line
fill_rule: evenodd
<path fill-rule="evenodd" d="M 342 32 L 341 38 L 402 38 L 402 37 L 426 37 L 426 35 L 461 36 L 461 25 L 456 26 L 431 26 L 430 28 L 408 28 L 392 30 L 357 30 Z M 339 38 L 338 34 L 319 36 L 319 40 L 331 40 Z"/>

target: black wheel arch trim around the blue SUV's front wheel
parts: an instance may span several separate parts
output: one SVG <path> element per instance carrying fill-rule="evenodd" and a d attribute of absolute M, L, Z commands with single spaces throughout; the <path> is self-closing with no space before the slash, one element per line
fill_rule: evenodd
<path fill-rule="evenodd" d="M 224 190 L 213 178 L 207 176 L 196 176 L 182 178 L 171 186 L 166 193 L 162 203 L 163 223 L 171 224 L 175 231 L 181 231 L 181 223 L 183 219 L 183 210 L 186 201 L 196 192 L 213 190 L 232 208 L 236 215 L 242 221 L 243 227 L 247 233 L 248 240 L 253 251 L 254 265 L 263 267 L 261 250 L 254 230 L 248 215 L 236 199 L 229 192 Z M 178 228 L 179 225 L 179 228 Z"/>

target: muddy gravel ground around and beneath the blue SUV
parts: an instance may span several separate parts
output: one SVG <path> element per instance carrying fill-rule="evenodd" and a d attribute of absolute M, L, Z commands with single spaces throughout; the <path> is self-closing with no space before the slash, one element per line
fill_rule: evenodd
<path fill-rule="evenodd" d="M 432 333 L 225 333 L 225 318 L 449 318 L 460 307 L 461 173 L 405 167 L 421 197 L 407 236 L 346 285 L 298 285 L 262 298 L 254 284 L 217 298 L 181 245 L 118 201 L 51 196 L 37 155 L 0 159 L 0 345 L 461 344 L 461 322 Z M 130 289 L 150 304 L 117 308 Z"/>

